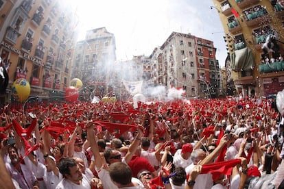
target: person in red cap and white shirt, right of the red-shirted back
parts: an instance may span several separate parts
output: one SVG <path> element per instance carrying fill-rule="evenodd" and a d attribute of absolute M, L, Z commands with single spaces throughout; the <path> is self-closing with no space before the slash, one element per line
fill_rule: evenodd
<path fill-rule="evenodd" d="M 182 149 L 178 149 L 174 154 L 174 166 L 175 167 L 182 167 L 186 168 L 189 166 L 191 161 L 191 152 L 193 151 L 193 146 L 190 143 L 183 144 Z"/>

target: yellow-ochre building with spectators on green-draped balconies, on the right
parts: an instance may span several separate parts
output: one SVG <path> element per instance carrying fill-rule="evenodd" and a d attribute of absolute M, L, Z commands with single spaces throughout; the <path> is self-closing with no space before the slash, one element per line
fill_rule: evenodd
<path fill-rule="evenodd" d="M 268 96 L 284 88 L 281 0 L 213 0 L 229 53 L 226 68 L 237 93 Z"/>

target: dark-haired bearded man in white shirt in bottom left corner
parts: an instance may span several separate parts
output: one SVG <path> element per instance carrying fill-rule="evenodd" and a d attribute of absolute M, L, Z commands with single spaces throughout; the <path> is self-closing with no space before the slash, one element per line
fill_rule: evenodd
<path fill-rule="evenodd" d="M 10 157 L 11 162 L 7 162 L 5 166 L 11 177 L 19 183 L 19 186 L 22 189 L 33 188 L 36 184 L 38 184 L 34 173 L 32 173 L 29 166 L 25 164 L 25 161 L 28 160 L 21 160 L 16 147 L 8 147 L 8 155 Z"/>

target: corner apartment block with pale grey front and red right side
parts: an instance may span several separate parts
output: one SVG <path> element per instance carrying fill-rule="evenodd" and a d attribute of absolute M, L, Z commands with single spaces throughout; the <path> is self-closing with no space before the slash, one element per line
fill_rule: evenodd
<path fill-rule="evenodd" d="M 154 85 L 182 88 L 189 98 L 220 96 L 221 73 L 213 42 L 172 32 L 152 55 Z"/>

